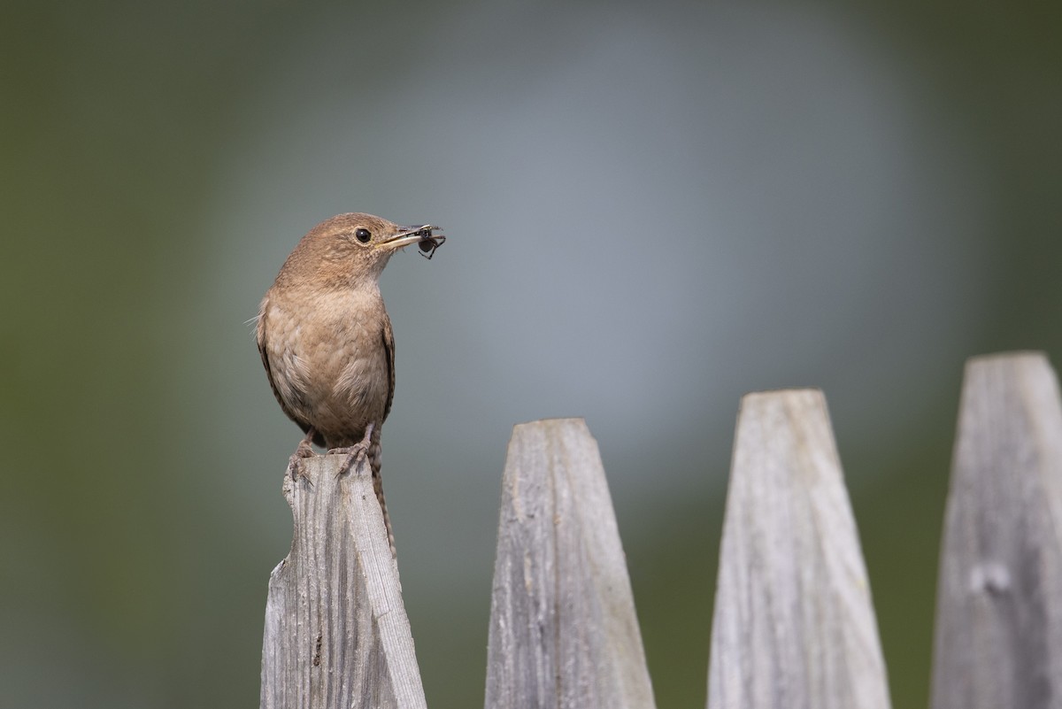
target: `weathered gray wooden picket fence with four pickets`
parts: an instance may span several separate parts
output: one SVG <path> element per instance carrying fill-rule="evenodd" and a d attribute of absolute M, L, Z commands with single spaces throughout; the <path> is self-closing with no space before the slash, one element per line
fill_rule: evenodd
<path fill-rule="evenodd" d="M 308 461 L 273 571 L 261 707 L 425 707 L 369 473 Z M 1046 357 L 966 365 L 938 588 L 932 709 L 1062 707 L 1062 403 Z M 487 709 L 654 706 L 597 444 L 517 426 L 502 483 Z M 741 401 L 709 709 L 885 709 L 885 662 L 822 394 Z"/>

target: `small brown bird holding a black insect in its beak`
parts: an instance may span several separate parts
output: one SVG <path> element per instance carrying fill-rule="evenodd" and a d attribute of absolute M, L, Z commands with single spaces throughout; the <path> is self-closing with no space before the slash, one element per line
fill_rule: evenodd
<path fill-rule="evenodd" d="M 401 227 L 372 214 L 339 214 L 310 230 L 284 262 L 258 311 L 258 351 L 280 408 L 306 433 L 289 470 L 313 455 L 310 443 L 366 455 L 373 488 L 394 536 L 380 481 L 380 427 L 395 391 L 395 344 L 379 277 L 391 255 L 418 244 L 428 258 L 439 227 Z"/>

